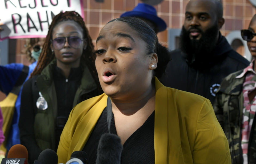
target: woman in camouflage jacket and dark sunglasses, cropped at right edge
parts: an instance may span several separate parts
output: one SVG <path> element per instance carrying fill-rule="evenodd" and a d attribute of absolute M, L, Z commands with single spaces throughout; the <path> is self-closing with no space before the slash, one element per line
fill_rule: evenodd
<path fill-rule="evenodd" d="M 253 57 L 250 65 L 228 75 L 216 95 L 214 111 L 229 141 L 232 163 L 256 163 L 256 15 L 242 38 Z"/>

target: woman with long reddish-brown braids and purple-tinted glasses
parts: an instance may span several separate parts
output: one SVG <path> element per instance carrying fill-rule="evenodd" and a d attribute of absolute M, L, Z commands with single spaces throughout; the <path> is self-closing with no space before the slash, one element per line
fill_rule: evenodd
<path fill-rule="evenodd" d="M 56 15 L 21 96 L 20 139 L 29 152 L 29 163 L 44 149 L 56 151 L 72 108 L 102 93 L 94 60 L 82 17 L 75 11 Z"/>

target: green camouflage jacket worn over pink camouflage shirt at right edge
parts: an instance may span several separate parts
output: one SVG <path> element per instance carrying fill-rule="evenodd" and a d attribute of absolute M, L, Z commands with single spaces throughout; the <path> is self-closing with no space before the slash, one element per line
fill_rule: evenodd
<path fill-rule="evenodd" d="M 243 121 L 243 82 L 246 75 L 241 78 L 235 78 L 242 72 L 243 70 L 232 73 L 222 81 L 213 106 L 216 117 L 229 142 L 232 164 L 243 163 L 241 127 Z M 249 138 L 248 164 L 256 163 L 255 121 L 256 119 L 253 120 Z"/>

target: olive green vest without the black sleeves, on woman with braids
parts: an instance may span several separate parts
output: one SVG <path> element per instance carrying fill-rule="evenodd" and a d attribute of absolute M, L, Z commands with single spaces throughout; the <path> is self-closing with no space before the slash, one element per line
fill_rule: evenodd
<path fill-rule="evenodd" d="M 52 78 L 52 73 L 55 67 L 56 60 L 52 61 L 45 69 L 43 69 L 41 75 L 39 75 L 37 78 L 37 87 L 42 93 L 42 96 L 45 98 L 46 102 L 48 103 L 48 110 L 37 109 L 38 113 L 35 115 L 34 122 L 35 138 L 37 140 L 38 146 L 42 150 L 47 148 L 55 150 L 54 132 L 56 122 L 55 119 L 57 117 L 57 96 Z M 87 94 L 92 90 L 95 90 L 97 87 L 93 77 L 89 72 L 89 69 L 85 64 L 82 65 L 82 69 L 83 76 L 81 79 L 81 85 L 78 87 L 75 94 L 73 107 L 83 100 L 81 99 L 82 95 Z M 48 124 L 44 124 L 42 122 L 48 122 Z"/>

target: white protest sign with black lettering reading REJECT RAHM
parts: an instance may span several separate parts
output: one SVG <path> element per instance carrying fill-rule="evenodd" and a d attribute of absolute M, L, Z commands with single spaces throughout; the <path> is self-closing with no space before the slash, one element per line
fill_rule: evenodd
<path fill-rule="evenodd" d="M 45 37 L 52 18 L 61 11 L 76 11 L 84 18 L 83 0 L 1 0 L 0 40 Z"/>

